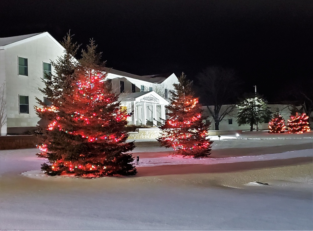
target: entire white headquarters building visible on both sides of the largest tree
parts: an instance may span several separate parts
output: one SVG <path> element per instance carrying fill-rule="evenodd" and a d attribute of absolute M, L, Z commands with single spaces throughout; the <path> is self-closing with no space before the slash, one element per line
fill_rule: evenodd
<path fill-rule="evenodd" d="M 0 86 L 4 84 L 6 102 L 1 135 L 22 134 L 37 125 L 35 97 L 45 99 L 38 90 L 44 88 L 41 78 L 44 72 L 54 72 L 50 60 L 55 61 L 63 52 L 62 45 L 48 32 L 0 38 Z M 178 83 L 175 74 L 137 76 L 105 70 L 110 70 L 107 79 L 113 91 L 121 93 L 121 106 L 133 113 L 129 124 L 153 126 L 165 118 L 169 91 Z"/>

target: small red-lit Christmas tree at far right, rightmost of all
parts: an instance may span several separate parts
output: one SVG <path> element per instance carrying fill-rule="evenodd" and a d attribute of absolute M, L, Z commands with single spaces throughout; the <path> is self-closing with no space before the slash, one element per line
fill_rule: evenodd
<path fill-rule="evenodd" d="M 303 113 L 295 115 L 290 115 L 290 119 L 288 119 L 288 132 L 289 133 L 304 133 L 309 132 L 309 117 Z"/>

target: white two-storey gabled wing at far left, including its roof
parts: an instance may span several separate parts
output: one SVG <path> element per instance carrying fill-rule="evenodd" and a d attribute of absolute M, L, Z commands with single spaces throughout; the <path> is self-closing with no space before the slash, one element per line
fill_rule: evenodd
<path fill-rule="evenodd" d="M 1 134 L 23 133 L 35 127 L 38 117 L 35 97 L 44 95 L 41 78 L 53 71 L 50 60 L 63 54 L 64 48 L 48 32 L 0 38 L 0 84 L 4 88 L 6 123 Z M 2 94 L 1 94 L 2 95 Z"/>

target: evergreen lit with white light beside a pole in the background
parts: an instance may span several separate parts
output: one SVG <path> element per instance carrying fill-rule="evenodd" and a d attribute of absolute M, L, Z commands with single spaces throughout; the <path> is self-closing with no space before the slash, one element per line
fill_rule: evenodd
<path fill-rule="evenodd" d="M 267 107 L 267 102 L 258 95 L 247 97 L 242 100 L 238 108 L 237 123 L 249 124 L 250 131 L 253 131 L 253 125 L 259 123 L 269 123 L 272 112 Z"/>

